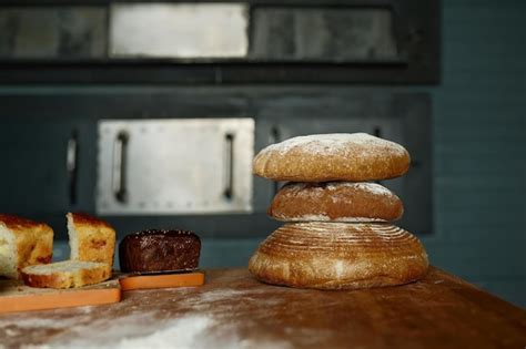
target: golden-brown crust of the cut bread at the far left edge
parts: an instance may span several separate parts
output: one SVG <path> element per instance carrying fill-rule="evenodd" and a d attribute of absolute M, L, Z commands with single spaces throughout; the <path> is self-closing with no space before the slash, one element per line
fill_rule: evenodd
<path fill-rule="evenodd" d="M 53 256 L 53 229 L 40 222 L 33 222 L 14 215 L 0 214 L 0 225 L 14 235 L 17 248 L 17 275 L 27 266 L 48 264 Z"/>

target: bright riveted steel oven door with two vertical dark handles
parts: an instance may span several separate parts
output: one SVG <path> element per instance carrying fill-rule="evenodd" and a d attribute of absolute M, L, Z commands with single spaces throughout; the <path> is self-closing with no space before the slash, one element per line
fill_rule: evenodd
<path fill-rule="evenodd" d="M 99 122 L 99 214 L 252 212 L 254 120 Z"/>

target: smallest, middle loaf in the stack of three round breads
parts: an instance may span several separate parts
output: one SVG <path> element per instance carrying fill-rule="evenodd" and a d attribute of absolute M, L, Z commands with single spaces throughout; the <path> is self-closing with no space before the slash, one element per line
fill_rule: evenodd
<path fill-rule="evenodd" d="M 269 215 L 283 222 L 392 222 L 402 201 L 376 183 L 287 183 L 274 196 Z"/>

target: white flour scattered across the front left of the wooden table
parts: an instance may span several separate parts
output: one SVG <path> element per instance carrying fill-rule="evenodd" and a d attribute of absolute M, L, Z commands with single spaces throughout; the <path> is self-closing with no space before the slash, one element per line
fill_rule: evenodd
<path fill-rule="evenodd" d="M 246 311 L 254 304 L 276 306 L 280 300 L 262 299 L 264 290 L 215 289 L 206 292 L 193 292 L 181 288 L 174 297 L 182 310 L 176 317 L 161 309 L 148 309 L 148 304 L 125 306 L 123 302 L 113 306 L 114 311 L 127 309 L 125 315 L 114 321 L 108 321 L 104 315 L 93 318 L 92 307 L 78 308 L 70 317 L 24 317 L 0 318 L 0 328 L 6 326 L 10 338 L 17 338 L 22 331 L 32 331 L 34 336 L 21 348 L 24 349 L 65 349 L 65 348 L 276 348 L 291 349 L 287 341 L 276 338 L 246 339 L 240 336 L 240 322 L 230 317 L 235 311 Z M 236 307 L 229 301 L 242 300 Z M 229 320 L 227 320 L 229 319 Z M 245 326 L 250 320 L 243 320 Z M 49 337 L 49 330 L 58 331 L 49 337 L 45 345 L 38 345 L 38 338 Z M 37 339 L 37 340 L 36 340 Z M 31 343 L 30 343 L 31 342 Z M 0 340 L 0 349 L 3 343 Z"/>

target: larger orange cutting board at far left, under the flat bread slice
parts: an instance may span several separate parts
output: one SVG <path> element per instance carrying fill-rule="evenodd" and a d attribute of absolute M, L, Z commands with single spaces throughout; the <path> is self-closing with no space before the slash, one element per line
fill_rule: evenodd
<path fill-rule="evenodd" d="M 34 288 L 18 280 L 0 279 L 0 314 L 107 305 L 120 300 L 121 289 L 117 279 L 69 289 Z"/>

